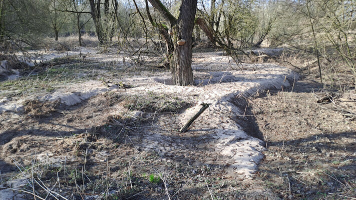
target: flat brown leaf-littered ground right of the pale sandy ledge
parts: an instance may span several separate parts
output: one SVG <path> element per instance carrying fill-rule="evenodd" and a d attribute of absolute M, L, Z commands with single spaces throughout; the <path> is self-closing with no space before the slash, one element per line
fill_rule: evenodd
<path fill-rule="evenodd" d="M 356 196 L 354 90 L 334 102 L 316 101 L 326 92 L 310 79 L 284 91 L 249 99 L 268 148 L 257 180 L 281 198 L 351 199 Z M 343 107 L 343 109 L 340 109 Z"/>

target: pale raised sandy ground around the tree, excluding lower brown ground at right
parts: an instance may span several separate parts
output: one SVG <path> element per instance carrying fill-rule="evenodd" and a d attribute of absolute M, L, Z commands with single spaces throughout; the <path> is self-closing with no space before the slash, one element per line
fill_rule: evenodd
<path fill-rule="evenodd" d="M 82 191 L 74 192 L 75 194 L 63 192 L 67 197 L 72 195 L 71 199 L 79 199 L 80 195 L 86 195 L 89 199 L 102 197 L 98 194 L 99 191 L 94 192 L 90 188 L 93 179 L 97 181 L 97 185 L 102 184 L 104 179 L 108 182 L 121 182 L 118 186 L 106 187 L 106 192 L 126 196 L 125 198 L 135 195 L 138 199 L 155 199 L 174 196 L 177 191 L 181 191 L 180 199 L 187 199 L 189 195 L 199 199 L 199 196 L 209 195 L 205 188 L 205 178 L 208 178 L 215 191 L 218 187 L 216 185 L 220 185 L 219 191 L 226 192 L 228 198 L 236 197 L 238 193 L 234 192 L 235 188 L 242 186 L 231 181 L 253 181 L 265 152 L 269 152 L 266 146 L 271 144 L 268 142 L 275 141 L 269 137 L 273 135 L 261 133 L 254 127 L 260 125 L 259 120 L 251 122 L 249 102 L 254 102 L 250 101 L 251 97 L 258 96 L 263 91 L 294 88 L 300 78 L 292 70 L 274 64 L 237 66 L 222 52 L 201 52 L 194 53 L 193 58 L 195 85 L 182 87 L 170 84 L 167 70 L 137 67 L 130 61 L 123 63 L 125 58 L 122 54 L 96 54 L 94 49 L 87 51 L 79 52 L 83 65 L 105 65 L 104 68 L 90 67 L 80 71 L 81 74 L 100 71 L 94 78 L 65 82 L 54 89 L 41 92 L 24 91 L 12 95 L 9 90 L 3 91 L 4 97 L 0 101 L 0 145 L 3 148 L 0 168 L 6 181 L 2 181 L 2 184 L 7 185 L 7 189 L 1 190 L 4 195 L 26 199 L 8 187 L 31 190 L 31 186 L 26 186 L 26 181 L 31 181 L 34 177 L 29 168 L 34 170 L 37 166 L 39 180 L 41 178 L 50 181 L 51 170 L 55 170 L 60 174 L 58 181 L 67 183 L 67 187 L 73 189 L 78 187 L 77 183 L 68 183 L 63 178 L 70 175 L 69 170 L 83 170 L 83 181 L 79 184 Z M 76 53 L 78 52 L 72 54 Z M 43 55 L 42 59 L 60 55 Z M 116 75 L 115 70 L 112 72 L 105 68 L 106 63 L 125 73 Z M 179 100 L 184 105 L 174 112 L 157 109 L 135 111 L 125 106 L 128 99 L 122 96 Z M 136 105 L 138 102 L 139 100 Z M 210 103 L 209 108 L 187 132 L 178 132 L 201 107 L 201 102 Z M 255 104 L 262 103 L 257 101 Z M 47 175 L 43 174 L 44 166 L 47 167 L 45 171 L 51 169 Z M 67 172 L 66 167 L 69 168 Z M 103 168 L 106 168 L 105 174 L 102 172 Z M 112 172 L 109 173 L 110 170 Z M 202 177 L 200 172 L 203 171 L 206 177 Z M 161 182 L 154 185 L 154 180 L 150 180 L 145 185 L 140 179 L 145 179 L 147 174 L 152 173 L 157 174 Z M 183 175 L 179 175 L 180 173 Z M 167 183 L 168 180 L 171 181 L 170 184 Z M 227 190 L 225 181 L 229 182 Z M 167 184 L 170 189 L 167 189 Z M 45 184 L 38 183 L 36 186 L 39 195 L 42 190 L 40 185 Z M 278 195 L 272 189 L 259 189 L 258 185 L 261 184 L 256 185 L 257 188 L 250 188 L 252 193 L 264 193 L 264 196 L 277 198 Z M 84 189 L 85 186 L 87 189 Z M 57 189 L 54 191 L 60 192 L 57 186 L 54 188 Z M 150 188 L 151 192 L 147 193 Z M 138 195 L 139 192 L 142 193 Z M 242 195 L 246 197 L 247 194 Z"/>

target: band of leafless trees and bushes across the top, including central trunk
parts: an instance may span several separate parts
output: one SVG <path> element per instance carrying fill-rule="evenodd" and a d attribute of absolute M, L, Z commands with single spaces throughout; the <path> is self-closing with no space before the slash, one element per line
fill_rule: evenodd
<path fill-rule="evenodd" d="M 335 57 L 356 77 L 355 9 L 354 0 L 0 0 L 0 42 L 5 51 L 75 33 L 82 45 L 95 33 L 99 45 L 115 37 L 136 54 L 132 41 L 144 38 L 140 48 L 159 44 L 179 85 L 193 81 L 193 34 L 237 62 L 241 49 L 287 45 L 316 57 L 322 81 Z"/>

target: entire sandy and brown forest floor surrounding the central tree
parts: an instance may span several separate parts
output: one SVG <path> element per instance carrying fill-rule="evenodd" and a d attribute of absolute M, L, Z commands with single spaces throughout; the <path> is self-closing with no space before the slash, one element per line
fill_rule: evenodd
<path fill-rule="evenodd" d="M 356 197 L 354 90 L 273 63 L 240 70 L 213 51 L 194 53 L 195 84 L 180 87 L 159 57 L 97 51 L 41 52 L 0 82 L 0 196 Z"/>

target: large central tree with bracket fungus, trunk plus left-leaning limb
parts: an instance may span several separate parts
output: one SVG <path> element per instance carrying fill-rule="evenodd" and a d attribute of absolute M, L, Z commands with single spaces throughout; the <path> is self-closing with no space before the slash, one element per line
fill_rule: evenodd
<path fill-rule="evenodd" d="M 182 0 L 178 18 L 174 17 L 160 0 L 148 1 L 167 23 L 166 26 L 160 25 L 165 27 L 161 29 L 160 34 L 165 38 L 168 46 L 173 83 L 182 86 L 192 84 L 192 35 L 197 0 Z M 157 26 L 157 23 L 153 22 L 152 19 L 150 21 L 152 25 Z M 167 35 L 170 35 L 170 38 L 167 38 Z M 172 41 L 170 42 L 169 40 Z M 173 47 L 169 47 L 169 45 L 173 45 Z M 171 48 L 171 52 L 169 52 L 169 48 Z"/>

